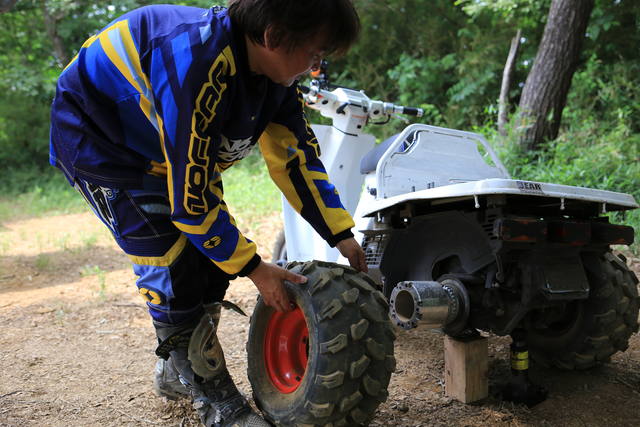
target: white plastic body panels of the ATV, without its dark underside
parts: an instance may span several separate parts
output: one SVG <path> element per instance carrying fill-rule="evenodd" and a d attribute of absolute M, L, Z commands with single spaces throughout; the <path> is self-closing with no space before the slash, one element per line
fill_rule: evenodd
<path fill-rule="evenodd" d="M 330 101 L 332 104 L 370 101 L 363 92 L 342 88 L 334 92 L 339 98 Z M 317 104 L 314 107 L 320 109 Z M 477 133 L 413 124 L 389 141 L 385 150 L 370 153 L 375 137 L 362 130 L 366 115 L 358 115 L 351 107 L 335 114 L 326 104 L 321 111 L 335 124 L 312 125 L 320 159 L 344 207 L 354 217 L 360 243 L 363 232 L 375 229 L 371 217 L 405 203 L 445 205 L 466 199 L 480 208 L 480 197 L 504 195 L 533 198 L 536 203 L 543 203 L 541 198 L 544 203 L 554 199 L 560 213 L 568 204 L 593 205 L 601 213 L 638 207 L 629 194 L 511 179 L 489 143 Z M 365 158 L 367 153 L 369 158 Z M 363 170 L 358 166 L 363 160 L 374 168 L 362 165 Z M 288 259 L 345 262 L 284 198 L 283 215 Z"/>

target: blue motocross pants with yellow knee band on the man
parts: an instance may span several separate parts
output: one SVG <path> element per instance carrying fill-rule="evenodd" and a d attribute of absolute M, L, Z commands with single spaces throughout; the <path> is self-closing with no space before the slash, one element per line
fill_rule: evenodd
<path fill-rule="evenodd" d="M 203 304 L 224 299 L 229 275 L 204 256 L 171 222 L 166 189 L 106 188 L 76 179 L 75 188 L 129 255 L 138 292 L 153 320 L 199 319 Z"/>

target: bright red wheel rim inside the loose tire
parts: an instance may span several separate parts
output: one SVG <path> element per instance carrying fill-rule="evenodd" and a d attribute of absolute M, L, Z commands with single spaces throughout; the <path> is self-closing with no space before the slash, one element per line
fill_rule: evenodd
<path fill-rule="evenodd" d="M 275 311 L 264 338 L 267 375 L 278 391 L 293 393 L 307 369 L 309 330 L 299 307 L 288 313 Z"/>

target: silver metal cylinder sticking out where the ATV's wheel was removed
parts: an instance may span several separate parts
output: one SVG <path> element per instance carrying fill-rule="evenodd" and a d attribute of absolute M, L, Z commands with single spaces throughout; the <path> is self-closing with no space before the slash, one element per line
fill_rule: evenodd
<path fill-rule="evenodd" d="M 469 317 L 469 294 L 455 278 L 400 282 L 391 291 L 389 314 L 403 329 L 422 326 L 455 335 Z"/>

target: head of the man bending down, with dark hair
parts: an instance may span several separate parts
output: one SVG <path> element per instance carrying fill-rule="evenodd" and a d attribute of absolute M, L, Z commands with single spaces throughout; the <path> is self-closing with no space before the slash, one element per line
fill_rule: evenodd
<path fill-rule="evenodd" d="M 230 0 L 229 16 L 252 45 L 253 71 L 285 86 L 345 53 L 360 30 L 350 0 Z"/>

